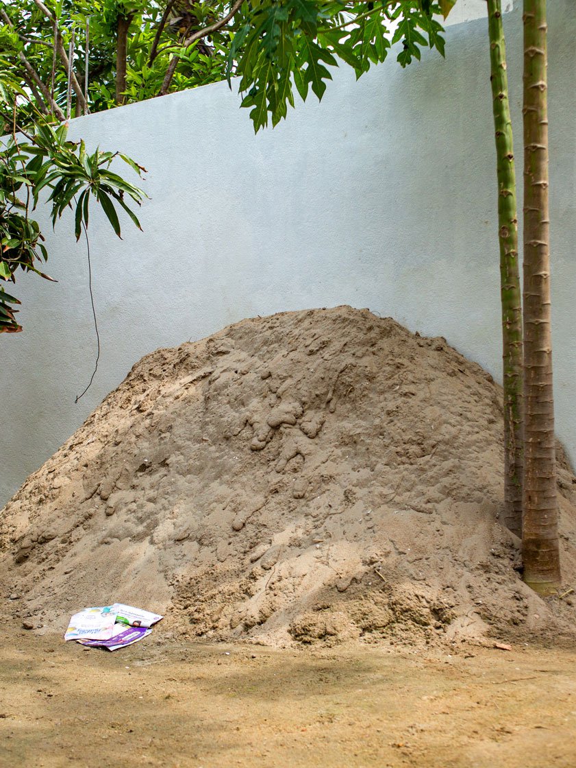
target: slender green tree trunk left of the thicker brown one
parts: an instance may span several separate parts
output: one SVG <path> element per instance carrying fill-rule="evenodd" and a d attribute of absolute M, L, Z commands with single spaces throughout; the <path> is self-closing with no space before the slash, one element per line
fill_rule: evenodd
<path fill-rule="evenodd" d="M 498 232 L 504 381 L 504 498 L 506 525 L 522 536 L 522 300 L 512 117 L 501 0 L 488 0 L 490 83 L 498 168 Z"/>

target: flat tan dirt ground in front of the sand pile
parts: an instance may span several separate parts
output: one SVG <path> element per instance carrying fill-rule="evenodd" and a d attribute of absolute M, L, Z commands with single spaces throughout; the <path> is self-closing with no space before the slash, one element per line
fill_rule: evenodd
<path fill-rule="evenodd" d="M 0 765 L 576 764 L 574 650 L 282 650 L 170 630 L 110 654 L 5 627 Z"/>

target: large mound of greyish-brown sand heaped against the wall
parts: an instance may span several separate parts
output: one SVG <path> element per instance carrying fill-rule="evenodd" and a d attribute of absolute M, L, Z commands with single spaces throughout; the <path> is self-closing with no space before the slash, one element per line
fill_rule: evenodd
<path fill-rule="evenodd" d="M 2 513 L 0 578 L 64 626 L 122 601 L 270 644 L 571 634 L 518 578 L 501 391 L 368 310 L 244 320 L 133 367 Z M 561 491 L 576 576 L 576 485 Z"/>

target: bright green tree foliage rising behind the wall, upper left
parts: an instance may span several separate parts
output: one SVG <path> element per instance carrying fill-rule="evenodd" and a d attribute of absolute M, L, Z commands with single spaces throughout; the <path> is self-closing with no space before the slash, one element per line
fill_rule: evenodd
<path fill-rule="evenodd" d="M 45 0 L 44 6 L 58 23 L 66 53 L 74 31 L 74 72 L 81 88 L 84 88 L 86 74 L 88 25 L 89 111 L 100 111 L 116 105 L 119 18 L 130 22 L 125 103 L 157 96 L 173 56 L 177 56 L 179 61 L 170 91 L 219 81 L 225 76 L 229 31 L 222 29 L 211 35 L 208 41 L 201 40 L 188 46 L 183 44 L 193 31 L 222 18 L 229 10 L 229 3 L 217 0 L 176 0 L 163 26 L 166 0 Z M 4 10 L 13 27 L 0 19 L 0 51 L 9 58 L 21 85 L 29 85 L 29 77 L 18 57 L 18 51 L 25 53 L 41 81 L 51 89 L 53 22 L 35 5 L 34 0 L 11 0 Z M 67 70 L 58 56 L 54 74 L 54 100 L 65 111 Z M 73 114 L 81 114 L 81 105 L 75 94 L 74 104 Z"/>

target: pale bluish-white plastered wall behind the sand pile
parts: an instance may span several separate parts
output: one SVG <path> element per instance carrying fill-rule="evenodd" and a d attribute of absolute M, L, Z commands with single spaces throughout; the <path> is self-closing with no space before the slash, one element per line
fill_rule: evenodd
<path fill-rule="evenodd" d="M 551 221 L 558 435 L 576 458 L 576 13 L 550 15 Z M 520 137 L 522 23 L 505 17 Z M 47 227 L 47 283 L 21 276 L 25 332 L 0 336 L 0 502 L 133 362 L 246 316 L 349 303 L 443 335 L 500 370 L 495 150 L 486 22 L 449 28 L 406 70 L 334 73 L 322 104 L 255 136 L 226 84 L 73 121 L 149 170 L 144 232 L 91 222 L 102 357 L 94 364 L 84 244 Z M 519 148 L 519 141 L 518 141 Z M 522 162 L 522 153 L 519 159 Z M 522 177 L 522 174 L 521 174 Z"/>

